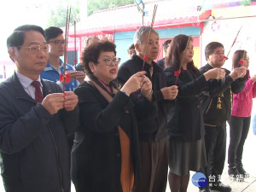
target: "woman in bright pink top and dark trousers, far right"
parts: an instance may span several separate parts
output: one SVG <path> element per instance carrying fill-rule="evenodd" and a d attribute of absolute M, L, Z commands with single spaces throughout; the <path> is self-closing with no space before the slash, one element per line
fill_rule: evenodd
<path fill-rule="evenodd" d="M 249 67 L 249 57 L 246 50 L 236 50 L 233 55 L 232 65 L 236 67 Z M 248 177 L 249 174 L 243 169 L 241 158 L 243 145 L 251 122 L 253 98 L 256 96 L 256 75 L 250 77 L 247 69 L 246 86 L 237 94 L 233 94 L 232 114 L 230 123 L 230 146 L 228 154 L 229 175 L 231 177 Z"/>

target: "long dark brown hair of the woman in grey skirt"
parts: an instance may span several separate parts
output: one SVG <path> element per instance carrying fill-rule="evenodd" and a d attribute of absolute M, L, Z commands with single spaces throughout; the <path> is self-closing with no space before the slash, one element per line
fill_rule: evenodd
<path fill-rule="evenodd" d="M 187 35 L 177 35 L 172 40 L 172 47 L 170 49 L 170 53 L 166 56 L 166 68 L 167 67 L 175 67 L 179 68 L 181 65 L 180 55 L 188 44 L 188 41 L 193 41 L 193 38 Z M 193 73 L 197 73 L 198 69 L 194 65 L 194 61 L 190 61 L 187 65 L 188 70 L 192 71 Z"/>

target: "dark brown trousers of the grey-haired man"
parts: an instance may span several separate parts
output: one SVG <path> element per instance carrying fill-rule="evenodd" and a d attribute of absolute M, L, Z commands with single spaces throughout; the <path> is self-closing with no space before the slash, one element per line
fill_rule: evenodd
<path fill-rule="evenodd" d="M 166 192 L 168 154 L 167 140 L 140 142 L 142 177 L 132 192 Z"/>

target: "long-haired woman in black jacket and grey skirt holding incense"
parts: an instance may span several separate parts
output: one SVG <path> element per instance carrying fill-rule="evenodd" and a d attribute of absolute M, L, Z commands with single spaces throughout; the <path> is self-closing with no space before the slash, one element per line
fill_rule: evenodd
<path fill-rule="evenodd" d="M 178 35 L 166 57 L 168 86 L 177 84 L 175 107 L 169 114 L 167 137 L 169 146 L 169 185 L 172 192 L 187 191 L 189 171 L 199 171 L 207 164 L 204 126 L 199 94 L 209 89 L 208 79 L 221 79 L 224 70 L 214 68 L 200 75 L 192 60 L 192 38 Z"/>

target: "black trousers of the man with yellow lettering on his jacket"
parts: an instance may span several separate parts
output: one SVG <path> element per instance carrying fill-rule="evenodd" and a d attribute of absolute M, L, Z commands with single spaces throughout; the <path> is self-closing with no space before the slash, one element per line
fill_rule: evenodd
<path fill-rule="evenodd" d="M 209 176 L 214 176 L 217 182 L 220 178 L 225 162 L 226 154 L 226 122 L 221 126 L 205 125 L 205 145 L 207 154 L 207 166 L 201 168 L 201 172 L 205 174 L 209 181 Z"/>

